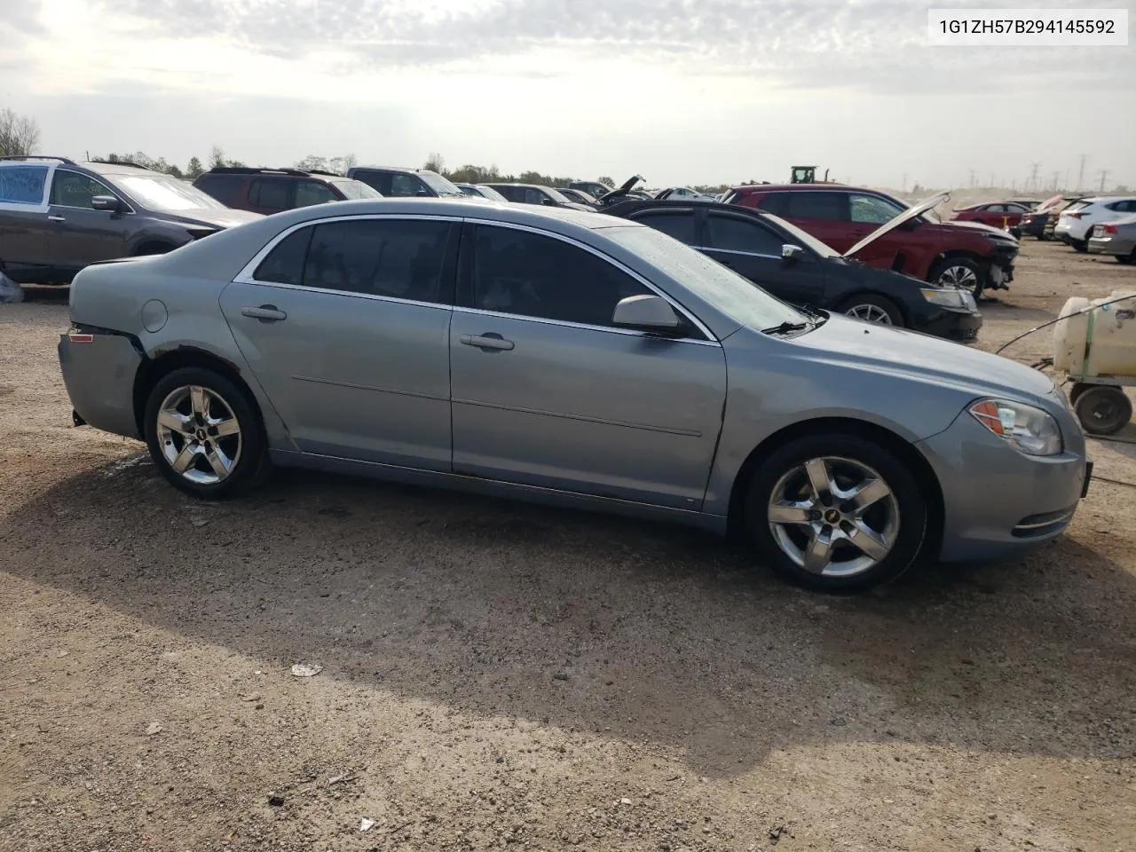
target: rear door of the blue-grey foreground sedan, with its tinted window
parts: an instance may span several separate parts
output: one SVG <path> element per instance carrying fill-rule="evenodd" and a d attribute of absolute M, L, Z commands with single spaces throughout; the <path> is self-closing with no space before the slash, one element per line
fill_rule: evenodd
<path fill-rule="evenodd" d="M 326 219 L 291 232 L 222 293 L 241 353 L 295 449 L 450 470 L 458 227 L 429 217 Z"/>

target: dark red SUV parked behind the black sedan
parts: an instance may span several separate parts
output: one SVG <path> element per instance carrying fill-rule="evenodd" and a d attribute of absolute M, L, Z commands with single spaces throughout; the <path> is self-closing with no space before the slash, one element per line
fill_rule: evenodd
<path fill-rule="evenodd" d="M 941 222 L 929 207 L 945 198 L 911 208 L 875 190 L 799 183 L 737 186 L 725 201 L 787 219 L 868 266 L 961 286 L 976 298 L 985 289 L 1005 289 L 1013 279 L 1018 241 L 976 222 Z"/>

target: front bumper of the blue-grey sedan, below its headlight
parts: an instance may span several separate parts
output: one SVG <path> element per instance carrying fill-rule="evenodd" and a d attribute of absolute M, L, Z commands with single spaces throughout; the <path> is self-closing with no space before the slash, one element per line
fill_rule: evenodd
<path fill-rule="evenodd" d="M 916 444 L 943 488 L 941 561 L 1004 559 L 1064 532 L 1088 469 L 1079 426 L 1071 416 L 1058 423 L 1066 449 L 1046 458 L 1014 450 L 966 411 Z"/>

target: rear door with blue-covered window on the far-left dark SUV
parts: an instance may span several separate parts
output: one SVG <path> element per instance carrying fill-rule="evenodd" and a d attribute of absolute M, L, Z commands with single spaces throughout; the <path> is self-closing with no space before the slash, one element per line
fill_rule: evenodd
<path fill-rule="evenodd" d="M 20 282 L 47 281 L 53 256 L 48 193 L 53 166 L 45 162 L 0 167 L 0 260 Z M 50 283 L 50 282 L 49 282 Z"/>

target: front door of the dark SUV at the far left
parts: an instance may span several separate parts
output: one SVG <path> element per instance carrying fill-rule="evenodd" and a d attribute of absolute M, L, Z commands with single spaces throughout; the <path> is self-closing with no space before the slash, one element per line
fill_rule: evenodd
<path fill-rule="evenodd" d="M 51 179 L 51 206 L 48 219 L 49 237 L 56 265 L 70 270 L 82 269 L 98 260 L 112 260 L 126 253 L 127 226 L 124 210 L 94 210 L 95 195 L 122 197 L 100 181 L 78 172 L 57 168 Z"/>

